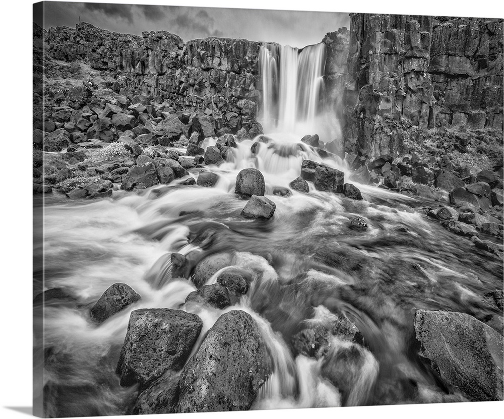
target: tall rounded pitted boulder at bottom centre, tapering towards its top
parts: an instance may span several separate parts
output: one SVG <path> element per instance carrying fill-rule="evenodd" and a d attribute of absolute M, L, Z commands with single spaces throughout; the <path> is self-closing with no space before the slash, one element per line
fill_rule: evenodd
<path fill-rule="evenodd" d="M 180 376 L 178 411 L 248 410 L 271 373 L 271 360 L 254 319 L 223 314 Z"/>

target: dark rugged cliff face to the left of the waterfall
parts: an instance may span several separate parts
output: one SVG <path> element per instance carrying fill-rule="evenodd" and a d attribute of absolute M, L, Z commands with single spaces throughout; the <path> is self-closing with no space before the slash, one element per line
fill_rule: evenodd
<path fill-rule="evenodd" d="M 117 83 L 167 99 L 177 108 L 257 114 L 259 42 L 207 38 L 185 43 L 166 31 L 118 34 L 80 23 L 51 28 L 45 41 L 54 59 L 84 59 L 95 70 L 115 72 Z M 121 77 L 121 78 L 120 78 Z M 120 79 L 119 79 L 120 78 Z"/>

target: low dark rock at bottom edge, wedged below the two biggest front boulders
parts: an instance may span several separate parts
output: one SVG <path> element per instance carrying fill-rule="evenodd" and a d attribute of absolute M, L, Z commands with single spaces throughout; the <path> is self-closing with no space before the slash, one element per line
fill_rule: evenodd
<path fill-rule="evenodd" d="M 180 394 L 179 381 L 179 374 L 166 372 L 139 394 L 133 414 L 175 413 Z"/>

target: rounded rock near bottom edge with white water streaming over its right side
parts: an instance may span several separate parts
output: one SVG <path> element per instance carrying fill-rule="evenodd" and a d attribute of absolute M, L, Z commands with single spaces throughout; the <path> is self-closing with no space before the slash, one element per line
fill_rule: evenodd
<path fill-rule="evenodd" d="M 340 391 L 343 406 L 365 404 L 378 371 L 378 362 L 368 350 L 341 340 L 331 345 L 321 366 L 322 376 Z"/>

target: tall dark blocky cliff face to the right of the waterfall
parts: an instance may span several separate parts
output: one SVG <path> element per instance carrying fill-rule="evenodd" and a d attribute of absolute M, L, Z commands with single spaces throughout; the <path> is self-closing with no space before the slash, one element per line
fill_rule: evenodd
<path fill-rule="evenodd" d="M 502 131 L 502 20 L 352 14 L 348 152 L 396 156 L 420 131 Z"/>

